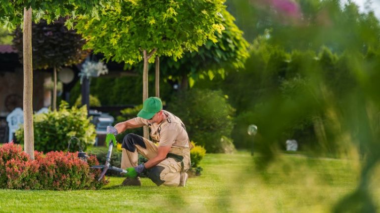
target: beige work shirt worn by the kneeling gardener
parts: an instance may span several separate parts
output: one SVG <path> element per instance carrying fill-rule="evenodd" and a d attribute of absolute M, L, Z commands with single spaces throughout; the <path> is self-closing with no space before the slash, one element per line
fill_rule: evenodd
<path fill-rule="evenodd" d="M 148 120 L 136 117 L 135 121 L 150 128 L 150 137 L 153 142 L 158 142 L 159 146 L 190 147 L 189 136 L 185 125 L 180 118 L 174 114 L 163 110 L 167 118 L 161 123 L 149 124 Z"/>

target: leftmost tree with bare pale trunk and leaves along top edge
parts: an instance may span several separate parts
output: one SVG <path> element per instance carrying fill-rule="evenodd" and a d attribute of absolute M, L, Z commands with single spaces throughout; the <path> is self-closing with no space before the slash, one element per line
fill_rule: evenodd
<path fill-rule="evenodd" d="M 24 149 L 31 159 L 34 159 L 33 134 L 33 69 L 32 69 L 32 19 L 52 20 L 61 16 L 76 14 L 91 14 L 97 17 L 97 9 L 101 5 L 109 5 L 111 0 L 26 0 L 8 1 L 0 0 L 0 23 L 8 29 L 23 25 L 23 64 L 24 64 Z M 34 13 L 32 13 L 32 9 Z M 66 26 L 72 28 L 72 21 L 68 19 Z"/>

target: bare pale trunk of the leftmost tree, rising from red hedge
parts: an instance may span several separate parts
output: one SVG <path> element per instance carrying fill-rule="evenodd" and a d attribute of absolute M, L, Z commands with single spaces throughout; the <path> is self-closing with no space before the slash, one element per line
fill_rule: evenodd
<path fill-rule="evenodd" d="M 32 8 L 24 7 L 23 66 L 24 66 L 24 151 L 34 160 L 33 132 L 33 67 L 32 67 Z"/>

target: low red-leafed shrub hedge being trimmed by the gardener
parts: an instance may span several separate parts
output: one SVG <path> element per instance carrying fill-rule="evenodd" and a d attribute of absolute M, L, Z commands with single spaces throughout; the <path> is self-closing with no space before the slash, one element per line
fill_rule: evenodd
<path fill-rule="evenodd" d="M 11 189 L 99 189 L 107 184 L 105 178 L 97 181 L 100 170 L 95 156 L 88 163 L 78 153 L 51 151 L 35 152 L 35 160 L 22 151 L 20 145 L 7 143 L 0 147 L 0 188 Z"/>

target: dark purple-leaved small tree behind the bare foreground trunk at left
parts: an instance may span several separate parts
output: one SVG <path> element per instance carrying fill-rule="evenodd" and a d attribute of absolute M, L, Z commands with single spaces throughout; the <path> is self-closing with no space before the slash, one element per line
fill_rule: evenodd
<path fill-rule="evenodd" d="M 54 23 L 47 24 L 46 20 L 32 24 L 33 68 L 53 69 L 53 103 L 56 110 L 57 100 L 57 70 L 62 66 L 71 66 L 81 63 L 89 51 L 82 50 L 85 41 L 74 30 L 67 29 L 65 19 L 60 18 Z M 22 31 L 18 27 L 13 33 L 13 45 L 22 58 Z"/>

